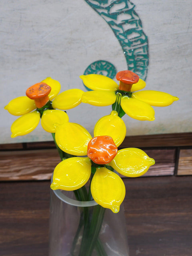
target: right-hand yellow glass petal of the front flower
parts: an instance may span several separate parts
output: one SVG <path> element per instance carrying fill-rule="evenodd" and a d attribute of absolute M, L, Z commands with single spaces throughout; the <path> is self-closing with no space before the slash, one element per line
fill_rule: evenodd
<path fill-rule="evenodd" d="M 155 160 L 148 157 L 143 150 L 124 148 L 118 150 L 115 158 L 108 165 L 124 176 L 138 177 L 146 173 L 153 164 L 155 164 Z"/>

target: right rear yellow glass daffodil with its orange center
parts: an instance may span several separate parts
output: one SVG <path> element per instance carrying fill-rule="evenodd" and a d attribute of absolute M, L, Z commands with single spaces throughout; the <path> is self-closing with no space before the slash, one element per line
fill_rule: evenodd
<path fill-rule="evenodd" d="M 165 92 L 143 89 L 146 83 L 139 76 L 129 70 L 120 71 L 114 80 L 103 75 L 89 74 L 80 78 L 86 87 L 92 91 L 82 95 L 82 102 L 94 106 L 108 106 L 116 101 L 116 94 L 121 94 L 121 107 L 124 113 L 137 120 L 153 121 L 154 109 L 152 106 L 169 106 L 177 97 Z"/>

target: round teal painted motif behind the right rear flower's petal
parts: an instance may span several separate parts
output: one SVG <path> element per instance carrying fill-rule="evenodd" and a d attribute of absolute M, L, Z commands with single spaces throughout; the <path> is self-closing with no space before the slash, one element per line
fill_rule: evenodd
<path fill-rule="evenodd" d="M 88 74 L 99 74 L 103 76 L 108 76 L 110 78 L 115 78 L 117 70 L 115 66 L 106 60 L 97 60 L 92 62 L 85 70 L 84 75 Z M 85 86 L 85 85 L 84 85 Z M 85 86 L 88 91 L 91 91 Z"/>

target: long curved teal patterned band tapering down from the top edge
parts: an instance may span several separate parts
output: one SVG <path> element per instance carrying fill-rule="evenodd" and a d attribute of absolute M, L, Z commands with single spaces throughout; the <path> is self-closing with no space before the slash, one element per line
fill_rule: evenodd
<path fill-rule="evenodd" d="M 128 70 L 146 80 L 149 54 L 148 38 L 142 22 L 129 0 L 85 0 L 110 26 L 118 39 Z"/>

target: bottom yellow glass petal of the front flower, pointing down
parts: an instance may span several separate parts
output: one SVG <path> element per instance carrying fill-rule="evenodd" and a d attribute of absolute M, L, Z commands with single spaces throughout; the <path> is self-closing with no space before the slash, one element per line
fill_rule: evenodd
<path fill-rule="evenodd" d="M 125 197 L 125 185 L 116 173 L 100 167 L 93 176 L 91 194 L 98 204 L 116 213 Z"/>

